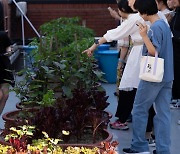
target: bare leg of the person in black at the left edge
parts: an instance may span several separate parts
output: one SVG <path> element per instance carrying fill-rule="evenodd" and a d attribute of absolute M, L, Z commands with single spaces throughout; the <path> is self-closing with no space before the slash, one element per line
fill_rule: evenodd
<path fill-rule="evenodd" d="M 0 115 L 3 112 L 6 101 L 9 97 L 9 84 L 4 83 L 0 85 Z"/>

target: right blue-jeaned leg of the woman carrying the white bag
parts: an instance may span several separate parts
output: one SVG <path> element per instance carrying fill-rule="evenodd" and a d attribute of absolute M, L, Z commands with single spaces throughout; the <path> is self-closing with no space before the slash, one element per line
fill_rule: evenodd
<path fill-rule="evenodd" d="M 166 83 L 155 100 L 157 113 L 154 117 L 157 154 L 170 154 L 170 107 L 172 83 Z"/>

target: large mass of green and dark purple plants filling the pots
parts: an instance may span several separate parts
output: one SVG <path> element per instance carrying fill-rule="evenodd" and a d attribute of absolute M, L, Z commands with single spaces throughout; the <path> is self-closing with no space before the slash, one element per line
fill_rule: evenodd
<path fill-rule="evenodd" d="M 88 144 L 100 144 L 104 138 L 112 139 L 105 130 L 110 118 L 104 111 L 108 96 L 98 84 L 104 81 L 103 72 L 93 57 L 82 54 L 92 44 L 94 33 L 79 22 L 79 18 L 59 18 L 41 26 L 43 37 L 31 43 L 37 46 L 30 55 L 31 67 L 22 70 L 24 80 L 14 88 L 23 106 L 14 122 L 3 116 L 4 137 L 10 127 L 28 121 L 36 126 L 36 140 L 44 136 L 42 132 L 61 138 L 63 144 L 83 144 L 89 138 Z M 70 134 L 62 134 L 63 130 Z"/>

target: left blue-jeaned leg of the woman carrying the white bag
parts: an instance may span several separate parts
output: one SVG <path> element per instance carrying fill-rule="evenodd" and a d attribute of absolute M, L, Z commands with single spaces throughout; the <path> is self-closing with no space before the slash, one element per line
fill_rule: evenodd
<path fill-rule="evenodd" d="M 139 152 L 149 151 L 145 137 L 148 111 L 156 99 L 162 84 L 140 81 L 133 105 L 133 140 L 131 148 Z"/>

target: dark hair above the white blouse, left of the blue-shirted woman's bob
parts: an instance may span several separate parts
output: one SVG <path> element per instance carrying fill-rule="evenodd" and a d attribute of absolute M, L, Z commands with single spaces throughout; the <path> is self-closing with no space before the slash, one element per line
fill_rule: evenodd
<path fill-rule="evenodd" d="M 118 8 L 124 13 L 135 13 L 128 5 L 128 0 L 120 0 L 118 2 Z"/>

